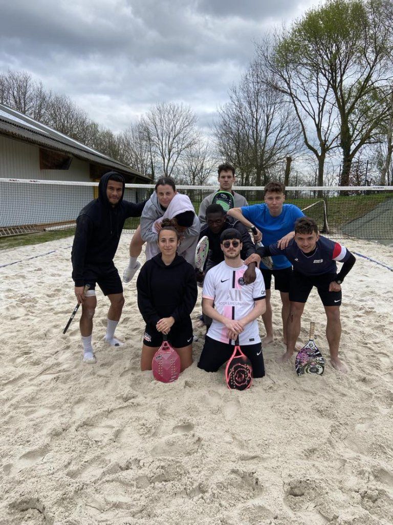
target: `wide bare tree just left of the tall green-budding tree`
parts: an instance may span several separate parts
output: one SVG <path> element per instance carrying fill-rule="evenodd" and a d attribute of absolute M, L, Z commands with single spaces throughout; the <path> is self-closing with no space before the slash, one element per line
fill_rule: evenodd
<path fill-rule="evenodd" d="M 238 171 L 246 174 L 246 184 L 265 185 L 273 167 L 297 149 L 296 118 L 281 93 L 270 86 L 261 61 L 249 65 L 219 114 L 216 136 L 221 151 L 236 158 Z M 232 151 L 224 152 L 225 146 Z"/>

